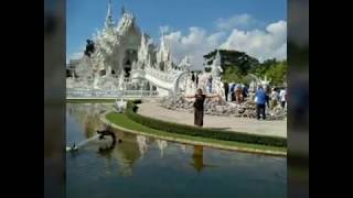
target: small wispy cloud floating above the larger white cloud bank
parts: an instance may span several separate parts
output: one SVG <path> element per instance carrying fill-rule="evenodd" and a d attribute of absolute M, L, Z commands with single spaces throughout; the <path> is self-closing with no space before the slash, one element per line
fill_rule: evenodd
<path fill-rule="evenodd" d="M 250 28 L 257 23 L 258 21 L 247 13 L 233 15 L 228 19 L 220 18 L 216 20 L 217 29 L 225 31 L 229 31 L 234 28 Z"/>

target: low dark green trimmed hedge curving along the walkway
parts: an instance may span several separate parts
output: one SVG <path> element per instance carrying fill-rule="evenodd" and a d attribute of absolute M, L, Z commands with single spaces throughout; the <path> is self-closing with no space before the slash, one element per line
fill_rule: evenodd
<path fill-rule="evenodd" d="M 173 122 L 167 122 L 162 120 L 152 119 L 149 117 L 143 117 L 136 113 L 138 107 L 135 101 L 128 101 L 127 109 L 125 111 L 126 116 L 151 129 L 161 130 L 171 133 L 186 134 L 192 136 L 203 136 L 210 139 L 217 139 L 224 141 L 235 141 L 250 144 L 261 144 L 269 146 L 287 146 L 287 139 L 278 136 L 267 136 L 267 135 L 257 135 L 257 134 L 247 134 L 240 132 L 229 132 L 229 131 L 218 131 L 213 129 L 196 128 L 192 125 L 184 125 Z"/>

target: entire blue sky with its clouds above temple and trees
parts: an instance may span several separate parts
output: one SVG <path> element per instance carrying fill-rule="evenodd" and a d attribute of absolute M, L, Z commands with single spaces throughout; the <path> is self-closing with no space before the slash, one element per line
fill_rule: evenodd
<path fill-rule="evenodd" d="M 85 41 L 104 26 L 108 0 L 66 1 L 66 59 L 82 56 Z M 113 0 L 116 21 L 121 7 L 159 44 L 161 30 L 175 62 L 195 67 L 202 55 L 237 50 L 267 58 L 287 58 L 287 0 Z M 178 63 L 176 63 L 178 64 Z"/>

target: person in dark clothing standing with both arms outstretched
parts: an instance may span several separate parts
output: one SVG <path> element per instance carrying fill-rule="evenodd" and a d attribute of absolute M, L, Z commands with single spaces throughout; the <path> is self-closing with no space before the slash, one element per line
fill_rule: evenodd
<path fill-rule="evenodd" d="M 186 96 L 185 98 L 195 98 L 194 101 L 194 124 L 202 128 L 203 127 L 203 116 L 204 116 L 204 101 L 206 98 L 220 97 L 220 95 L 204 95 L 202 89 L 197 89 L 195 96 Z M 221 98 L 221 97 L 220 97 Z"/>

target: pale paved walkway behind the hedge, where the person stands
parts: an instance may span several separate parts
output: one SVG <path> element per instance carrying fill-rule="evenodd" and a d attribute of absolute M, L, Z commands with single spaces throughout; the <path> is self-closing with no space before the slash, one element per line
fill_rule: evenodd
<path fill-rule="evenodd" d="M 157 102 L 143 102 L 139 105 L 139 107 L 138 113 L 146 117 L 190 125 L 193 125 L 194 122 L 193 113 L 169 110 Z M 205 114 L 204 128 L 217 128 L 229 131 L 287 138 L 287 120 L 258 121 L 248 118 Z"/>

